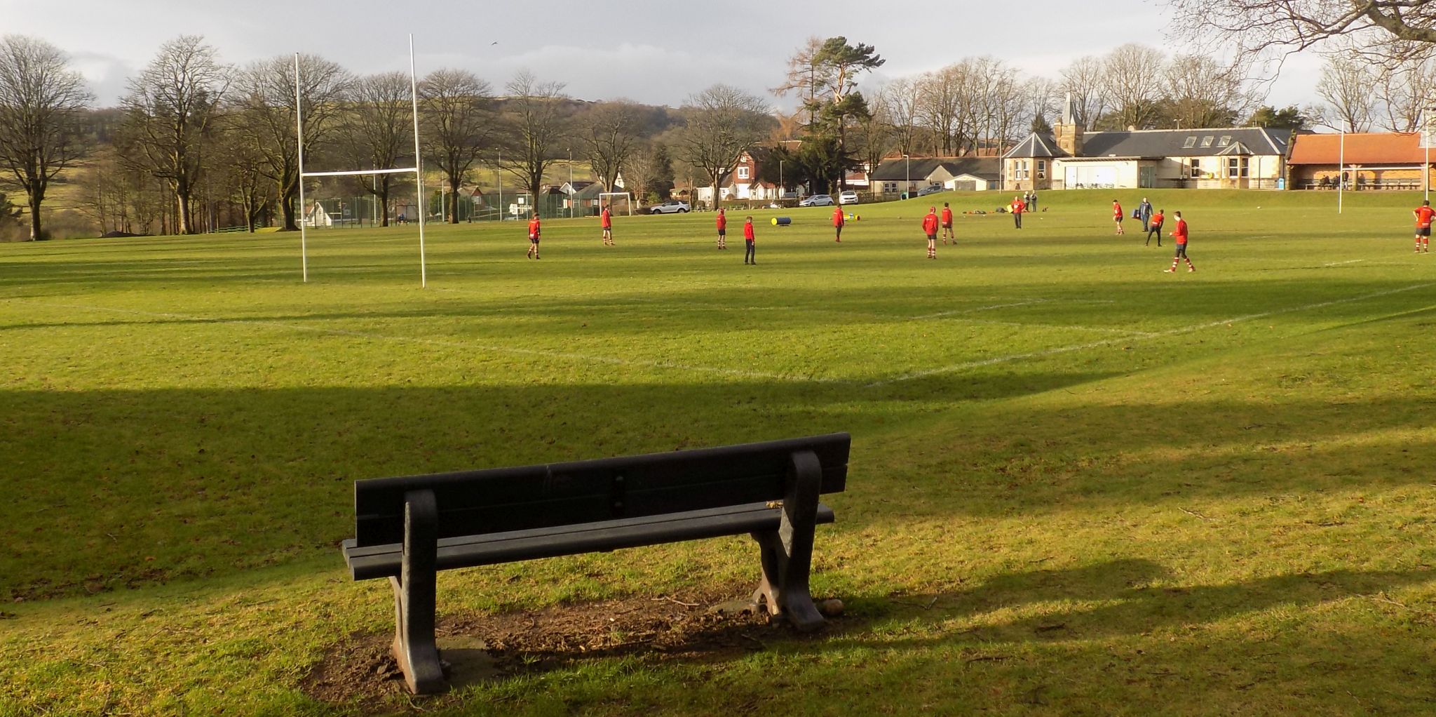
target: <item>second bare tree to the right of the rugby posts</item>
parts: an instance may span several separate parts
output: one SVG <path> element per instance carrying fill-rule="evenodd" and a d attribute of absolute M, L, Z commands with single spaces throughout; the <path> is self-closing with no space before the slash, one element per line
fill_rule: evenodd
<path fill-rule="evenodd" d="M 528 70 L 521 70 L 505 86 L 504 105 L 511 145 L 500 165 L 528 188 L 538 205 L 538 190 L 549 165 L 557 161 L 557 151 L 569 129 L 569 114 L 561 82 L 540 82 Z"/>

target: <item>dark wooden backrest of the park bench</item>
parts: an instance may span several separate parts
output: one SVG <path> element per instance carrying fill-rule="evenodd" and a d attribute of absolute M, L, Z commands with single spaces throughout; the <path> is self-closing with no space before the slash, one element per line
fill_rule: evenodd
<path fill-rule="evenodd" d="M 434 491 L 438 537 L 781 500 L 790 455 L 797 451 L 817 454 L 823 467 L 820 493 L 837 493 L 847 481 L 849 444 L 850 437 L 843 432 L 518 468 L 358 480 L 355 536 L 359 546 L 404 542 L 404 494 L 411 490 Z"/>

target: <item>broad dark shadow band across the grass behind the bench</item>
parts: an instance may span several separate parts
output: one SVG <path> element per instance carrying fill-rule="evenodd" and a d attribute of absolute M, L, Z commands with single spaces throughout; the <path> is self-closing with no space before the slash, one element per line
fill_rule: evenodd
<path fill-rule="evenodd" d="M 831 499 L 840 530 L 1429 481 L 1429 441 L 1328 444 L 1423 424 L 1419 395 L 939 408 L 1107 375 L 936 376 L 866 398 L 785 382 L 0 392 L 0 542 L 14 546 L 0 596 L 333 550 L 356 478 L 830 431 L 856 437 L 849 491 Z"/>

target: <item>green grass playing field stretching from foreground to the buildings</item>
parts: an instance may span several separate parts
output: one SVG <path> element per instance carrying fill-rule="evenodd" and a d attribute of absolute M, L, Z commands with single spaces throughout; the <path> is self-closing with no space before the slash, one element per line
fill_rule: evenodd
<path fill-rule="evenodd" d="M 1436 259 L 1413 194 L 945 194 L 712 216 L 0 246 L 0 714 L 1430 714 Z M 731 236 L 741 224 L 732 217 Z M 350 481 L 853 434 L 819 639 L 326 701 L 392 631 Z M 439 576 L 478 619 L 731 596 L 747 539 Z M 392 684 L 392 683 L 391 683 Z"/>

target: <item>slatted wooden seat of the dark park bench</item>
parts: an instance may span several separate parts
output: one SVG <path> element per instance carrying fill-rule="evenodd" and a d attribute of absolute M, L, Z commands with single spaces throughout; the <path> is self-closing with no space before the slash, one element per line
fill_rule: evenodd
<path fill-rule="evenodd" d="M 686 513 L 646 516 L 505 533 L 445 537 L 438 542 L 439 570 L 474 568 L 537 558 L 616 550 L 645 545 L 777 530 L 783 510 L 748 503 Z M 819 523 L 833 523 L 833 509 L 819 504 Z M 356 546 L 343 542 L 345 560 L 356 580 L 398 576 L 401 543 Z"/>

